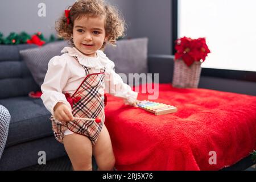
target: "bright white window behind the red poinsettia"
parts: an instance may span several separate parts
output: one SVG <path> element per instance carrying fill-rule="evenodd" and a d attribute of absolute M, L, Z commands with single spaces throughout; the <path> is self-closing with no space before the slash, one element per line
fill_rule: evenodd
<path fill-rule="evenodd" d="M 255 0 L 179 0 L 177 36 L 207 39 L 203 68 L 256 71 Z"/>

